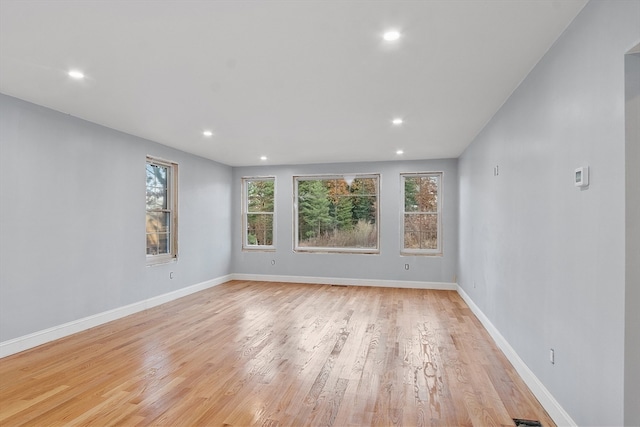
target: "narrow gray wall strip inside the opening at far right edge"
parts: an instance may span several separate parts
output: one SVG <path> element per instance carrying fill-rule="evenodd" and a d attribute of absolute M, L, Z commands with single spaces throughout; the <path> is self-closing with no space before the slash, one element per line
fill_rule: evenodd
<path fill-rule="evenodd" d="M 640 48 L 640 44 L 636 47 Z M 640 53 L 625 58 L 626 299 L 625 425 L 640 426 Z"/>

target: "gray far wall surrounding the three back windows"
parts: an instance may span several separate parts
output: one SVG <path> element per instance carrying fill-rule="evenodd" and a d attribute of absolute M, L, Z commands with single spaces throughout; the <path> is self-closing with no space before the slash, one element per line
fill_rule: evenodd
<path fill-rule="evenodd" d="M 400 173 L 443 171 L 442 257 L 400 256 Z M 293 252 L 293 176 L 309 174 L 380 173 L 380 254 Z M 233 218 L 234 273 L 455 282 L 458 230 L 457 160 L 378 163 L 336 163 L 305 166 L 243 167 L 233 170 L 233 206 L 240 211 L 243 176 L 276 177 L 276 252 L 242 251 L 242 223 Z M 271 265 L 271 260 L 276 264 Z M 404 265 L 409 263 L 408 271 Z"/>

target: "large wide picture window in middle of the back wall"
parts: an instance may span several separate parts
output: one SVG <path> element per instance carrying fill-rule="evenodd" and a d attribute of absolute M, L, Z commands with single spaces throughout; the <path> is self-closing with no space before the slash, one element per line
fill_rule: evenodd
<path fill-rule="evenodd" d="M 379 175 L 294 177 L 295 250 L 378 253 Z"/>

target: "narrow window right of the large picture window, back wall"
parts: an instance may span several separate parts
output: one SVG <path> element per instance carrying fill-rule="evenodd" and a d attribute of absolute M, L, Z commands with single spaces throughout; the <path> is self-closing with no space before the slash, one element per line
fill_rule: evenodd
<path fill-rule="evenodd" d="M 402 174 L 405 254 L 442 254 L 442 172 Z"/>

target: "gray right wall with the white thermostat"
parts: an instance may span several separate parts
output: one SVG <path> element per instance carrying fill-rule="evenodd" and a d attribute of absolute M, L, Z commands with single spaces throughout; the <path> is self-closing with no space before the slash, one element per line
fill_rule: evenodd
<path fill-rule="evenodd" d="M 588 3 L 458 165 L 459 284 L 579 425 L 623 423 L 624 56 L 639 40 L 640 2 Z"/>

